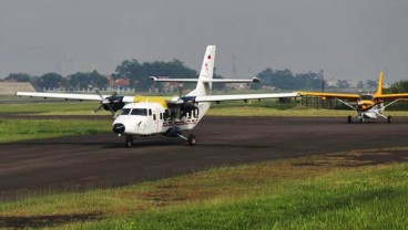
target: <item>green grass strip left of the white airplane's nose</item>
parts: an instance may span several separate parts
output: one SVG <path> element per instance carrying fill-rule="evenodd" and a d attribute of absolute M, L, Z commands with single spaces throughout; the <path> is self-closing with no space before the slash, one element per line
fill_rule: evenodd
<path fill-rule="evenodd" d="M 112 121 L 0 119 L 0 143 L 110 132 Z"/>

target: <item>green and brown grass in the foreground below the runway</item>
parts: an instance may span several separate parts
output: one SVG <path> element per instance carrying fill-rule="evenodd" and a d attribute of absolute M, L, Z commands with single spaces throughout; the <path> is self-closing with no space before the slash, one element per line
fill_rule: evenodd
<path fill-rule="evenodd" d="M 63 229 L 405 229 L 408 164 L 357 159 L 406 150 L 309 156 L 114 189 L 49 191 L 1 203 L 0 217 L 45 223 L 54 216 L 101 218 L 55 226 Z"/>

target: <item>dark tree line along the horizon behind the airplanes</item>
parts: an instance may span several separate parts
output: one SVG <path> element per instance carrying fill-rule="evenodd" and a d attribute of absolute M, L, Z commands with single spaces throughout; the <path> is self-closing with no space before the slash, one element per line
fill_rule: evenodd
<path fill-rule="evenodd" d="M 154 62 L 139 62 L 137 60 L 125 60 L 116 66 L 115 72 L 110 74 L 112 80 L 126 79 L 129 80 L 129 87 L 135 88 L 139 92 L 145 92 L 152 86 L 150 76 L 164 76 L 170 79 L 195 79 L 198 72 L 186 66 L 180 60 L 172 60 L 170 62 L 154 61 Z M 323 71 L 317 73 L 293 73 L 290 70 L 273 70 L 265 69 L 256 75 L 261 79 L 261 83 L 252 84 L 254 90 L 282 90 L 282 91 L 298 91 L 313 90 L 325 91 L 328 88 L 350 88 L 354 87 L 346 80 L 337 80 L 335 84 L 328 84 L 323 75 Z M 223 79 L 216 74 L 215 79 Z M 39 90 L 42 88 L 105 88 L 109 86 L 109 80 L 105 75 L 98 71 L 93 72 L 78 72 L 68 76 L 62 76 L 58 73 L 45 73 L 41 76 L 32 76 L 27 73 L 11 73 L 6 81 L 14 82 L 30 82 Z M 157 85 L 156 85 L 157 86 Z M 214 84 L 215 90 L 223 90 L 224 84 Z M 159 85 L 160 87 L 160 85 Z M 186 86 L 188 87 L 188 86 Z M 357 88 L 375 90 L 377 82 L 373 80 L 359 81 L 355 86 Z M 400 81 L 391 85 L 388 92 L 408 92 L 408 81 Z"/>

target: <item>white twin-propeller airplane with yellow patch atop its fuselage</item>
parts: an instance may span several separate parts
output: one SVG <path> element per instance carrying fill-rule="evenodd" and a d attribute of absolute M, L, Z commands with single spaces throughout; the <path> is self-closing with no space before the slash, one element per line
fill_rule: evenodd
<path fill-rule="evenodd" d="M 159 80 L 151 77 L 155 82 L 196 82 L 196 87 L 185 96 L 159 97 L 159 96 L 119 96 L 113 95 L 90 95 L 90 94 L 67 94 L 67 93 L 32 93 L 18 92 L 19 96 L 65 98 L 81 101 L 100 101 L 101 109 L 111 111 L 115 117 L 115 112 L 122 109 L 112 124 L 112 130 L 118 136 L 125 136 L 126 147 L 131 147 L 135 136 L 151 136 L 163 134 L 169 137 L 180 137 L 187 142 L 190 146 L 195 145 L 196 139 L 193 134 L 188 137 L 182 135 L 184 130 L 193 129 L 205 113 L 212 102 L 223 101 L 247 101 L 262 98 L 296 97 L 297 93 L 275 93 L 275 94 L 237 94 L 237 95 L 210 95 L 213 83 L 243 83 L 257 82 L 252 80 L 215 80 L 214 71 L 215 45 L 208 45 L 198 79 L 169 79 Z M 129 104 L 125 104 L 129 103 Z"/>

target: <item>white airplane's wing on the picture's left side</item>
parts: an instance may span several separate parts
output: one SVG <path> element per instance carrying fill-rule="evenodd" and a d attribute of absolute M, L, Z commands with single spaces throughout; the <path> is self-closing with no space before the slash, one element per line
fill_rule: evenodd
<path fill-rule="evenodd" d="M 37 93 L 37 92 L 17 92 L 18 96 L 30 96 L 30 97 L 43 97 L 43 98 L 62 98 L 62 100 L 79 100 L 79 101 L 98 101 L 101 102 L 104 98 L 111 97 L 112 95 L 98 95 L 98 94 L 70 94 L 70 93 Z M 101 96 L 103 98 L 101 98 Z M 118 97 L 118 96 L 116 96 Z M 133 96 L 123 96 L 122 102 L 133 102 Z"/>

